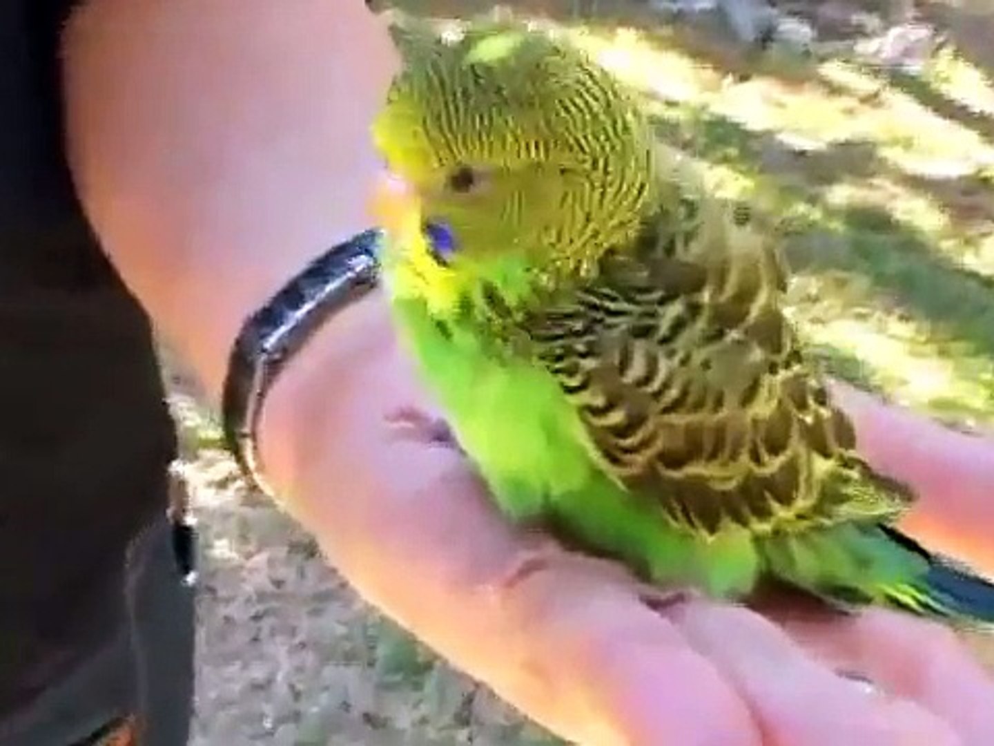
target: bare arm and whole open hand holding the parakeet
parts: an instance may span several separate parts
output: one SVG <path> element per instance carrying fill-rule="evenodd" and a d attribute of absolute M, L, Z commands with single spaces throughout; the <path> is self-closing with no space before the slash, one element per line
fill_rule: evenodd
<path fill-rule="evenodd" d="M 290 14 L 270 0 L 91 0 L 65 53 L 87 214 L 216 399 L 240 319 L 370 223 L 367 129 L 396 66 L 385 30 L 358 1 L 295 0 Z M 846 401 L 874 464 L 921 489 L 919 535 L 994 569 L 980 546 L 994 531 L 982 500 L 994 494 L 994 442 L 855 392 Z M 704 600 L 662 616 L 623 573 L 565 552 L 506 582 L 535 537 L 500 518 L 457 453 L 388 422 L 410 405 L 431 407 L 374 294 L 322 329 L 273 389 L 260 431 L 267 473 L 367 600 L 564 737 L 990 743 L 994 687 L 931 625 Z M 867 695 L 837 667 L 890 693 Z"/>

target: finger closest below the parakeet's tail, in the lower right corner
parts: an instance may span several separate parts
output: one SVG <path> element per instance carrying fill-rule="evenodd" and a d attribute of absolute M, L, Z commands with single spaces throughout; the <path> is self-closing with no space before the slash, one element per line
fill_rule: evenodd
<path fill-rule="evenodd" d="M 781 622 L 833 666 L 934 712 L 964 743 L 994 743 L 994 681 L 951 631 L 876 609 L 845 618 L 787 614 Z"/>

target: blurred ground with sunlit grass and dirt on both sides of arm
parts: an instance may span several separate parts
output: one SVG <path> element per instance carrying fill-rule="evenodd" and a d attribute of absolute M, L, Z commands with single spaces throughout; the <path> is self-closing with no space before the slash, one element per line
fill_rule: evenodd
<path fill-rule="evenodd" d="M 488 6 L 405 5 L 437 15 Z M 516 5 L 572 22 L 562 0 Z M 660 136 L 784 234 L 791 311 L 829 370 L 987 429 L 994 15 L 981 6 L 923 6 L 952 38 L 913 77 L 782 50 L 752 58 L 713 19 L 674 28 L 641 3 L 601 2 L 598 20 L 575 25 L 645 94 Z M 371 613 L 306 534 L 246 491 L 192 382 L 169 368 L 179 473 L 204 537 L 195 744 L 556 742 Z M 978 652 L 994 666 L 994 644 Z"/>

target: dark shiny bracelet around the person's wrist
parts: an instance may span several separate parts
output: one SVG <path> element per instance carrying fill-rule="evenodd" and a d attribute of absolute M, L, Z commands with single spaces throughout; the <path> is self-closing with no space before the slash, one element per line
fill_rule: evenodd
<path fill-rule="evenodd" d="M 235 339 L 222 397 L 225 445 L 246 478 L 269 495 L 255 443 L 265 396 L 328 318 L 377 285 L 380 240 L 380 231 L 369 230 L 322 254 L 248 316 Z"/>

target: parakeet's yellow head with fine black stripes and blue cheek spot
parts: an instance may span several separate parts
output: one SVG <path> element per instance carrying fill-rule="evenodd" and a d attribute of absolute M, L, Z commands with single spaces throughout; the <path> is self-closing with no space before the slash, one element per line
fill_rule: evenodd
<path fill-rule="evenodd" d="M 652 184 L 649 128 L 599 65 L 513 24 L 395 38 L 404 69 L 373 133 L 405 197 L 388 197 L 383 223 L 390 233 L 436 227 L 433 249 L 395 242 L 436 304 L 482 280 L 513 294 L 515 267 L 580 271 L 637 231 Z"/>

